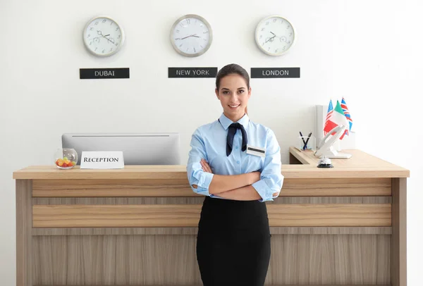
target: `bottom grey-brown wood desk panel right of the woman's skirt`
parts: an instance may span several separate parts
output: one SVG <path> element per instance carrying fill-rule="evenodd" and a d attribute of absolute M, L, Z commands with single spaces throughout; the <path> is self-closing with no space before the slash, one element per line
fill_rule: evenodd
<path fill-rule="evenodd" d="M 384 250 L 390 247 L 389 236 L 281 237 L 273 235 L 271 238 L 272 255 L 266 282 L 281 285 L 375 285 L 390 282 L 390 254 Z"/>

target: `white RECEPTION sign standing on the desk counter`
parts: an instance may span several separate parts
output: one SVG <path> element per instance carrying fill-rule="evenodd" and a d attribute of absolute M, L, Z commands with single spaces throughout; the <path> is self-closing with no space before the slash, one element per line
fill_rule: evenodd
<path fill-rule="evenodd" d="M 81 169 L 123 169 L 122 151 L 82 151 Z"/>

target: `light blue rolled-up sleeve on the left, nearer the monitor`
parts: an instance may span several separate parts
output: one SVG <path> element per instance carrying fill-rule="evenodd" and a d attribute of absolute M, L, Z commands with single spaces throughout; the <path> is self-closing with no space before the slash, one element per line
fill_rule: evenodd
<path fill-rule="evenodd" d="M 192 134 L 190 146 L 191 150 L 188 154 L 187 175 L 191 189 L 197 194 L 210 196 L 209 185 L 210 182 L 212 182 L 214 174 L 202 170 L 200 161 L 202 158 L 207 160 L 207 154 L 199 129 L 195 130 L 194 134 Z M 192 185 L 197 185 L 197 189 Z"/>

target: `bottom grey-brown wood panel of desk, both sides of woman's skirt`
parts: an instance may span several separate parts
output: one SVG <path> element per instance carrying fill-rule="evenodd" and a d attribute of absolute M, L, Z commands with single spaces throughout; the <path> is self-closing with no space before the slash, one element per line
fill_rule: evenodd
<path fill-rule="evenodd" d="M 389 235 L 272 235 L 266 285 L 390 285 Z M 35 237 L 34 285 L 201 284 L 193 235 Z"/>

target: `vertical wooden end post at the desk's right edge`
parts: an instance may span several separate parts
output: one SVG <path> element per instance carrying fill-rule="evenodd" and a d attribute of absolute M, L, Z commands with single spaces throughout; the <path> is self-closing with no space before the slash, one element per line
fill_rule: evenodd
<path fill-rule="evenodd" d="M 407 285 L 407 179 L 392 179 L 392 286 Z"/>

